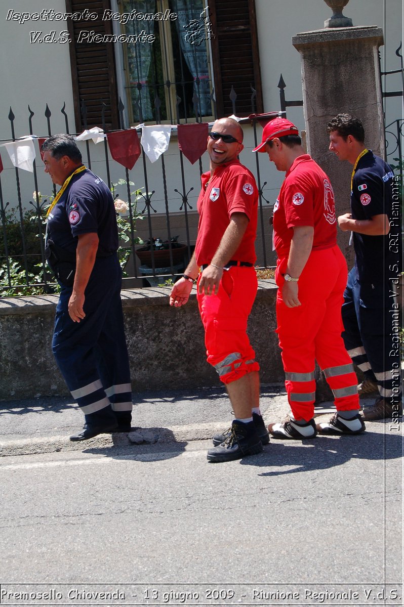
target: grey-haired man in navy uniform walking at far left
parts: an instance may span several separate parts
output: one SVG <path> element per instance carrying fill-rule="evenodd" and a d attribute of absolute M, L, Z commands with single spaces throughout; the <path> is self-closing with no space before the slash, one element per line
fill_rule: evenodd
<path fill-rule="evenodd" d="M 129 432 L 131 377 L 123 328 L 112 194 L 83 166 L 70 135 L 42 146 L 45 172 L 62 186 L 47 215 L 46 254 L 61 285 L 52 351 L 84 413 L 83 441 L 103 432 Z"/>

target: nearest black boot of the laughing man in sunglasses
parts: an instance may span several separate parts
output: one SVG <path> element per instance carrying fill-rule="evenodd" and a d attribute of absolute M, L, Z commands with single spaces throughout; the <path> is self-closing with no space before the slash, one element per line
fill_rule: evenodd
<path fill-rule="evenodd" d="M 259 439 L 256 427 L 253 421 L 244 424 L 235 419 L 231 424 L 230 435 L 224 443 L 208 450 L 208 461 L 222 462 L 240 459 L 245 455 L 255 455 L 261 453 L 262 443 Z"/>

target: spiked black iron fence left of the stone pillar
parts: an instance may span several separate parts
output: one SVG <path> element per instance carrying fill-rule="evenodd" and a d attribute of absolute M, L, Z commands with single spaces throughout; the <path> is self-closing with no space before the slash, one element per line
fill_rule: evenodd
<path fill-rule="evenodd" d="M 252 113 L 255 111 L 255 97 L 256 92 L 252 89 L 252 97 L 251 97 L 251 107 Z M 211 93 L 211 99 L 213 107 L 216 108 L 216 103 L 214 102 L 214 91 Z M 230 95 L 231 103 L 233 104 L 233 113 L 237 115 L 237 94 L 236 91 L 232 88 Z M 198 118 L 198 121 L 202 121 L 202 118 L 197 114 L 197 106 L 198 100 L 194 97 L 195 111 Z M 106 106 L 103 103 L 100 103 L 100 125 L 103 127 L 103 131 L 107 132 L 104 112 Z M 122 100 L 119 101 L 118 106 L 119 114 L 120 114 L 120 125 L 122 129 L 125 129 L 125 107 L 123 106 Z M 159 107 L 156 107 L 157 114 L 159 112 Z M 76 133 L 70 131 L 69 117 L 66 113 L 66 104 L 63 105 L 60 110 L 61 115 L 63 116 L 64 121 L 64 129 L 67 134 L 77 135 Z M 86 124 L 86 106 L 83 103 L 81 106 L 81 112 L 83 115 L 84 127 L 87 128 Z M 52 114 L 49 106 L 46 104 L 46 110 L 44 112 L 46 117 L 46 136 L 54 134 L 52 128 L 53 118 L 55 118 L 55 114 Z M 19 129 L 16 129 L 16 118 L 13 114 L 12 109 L 10 108 L 9 112 L 9 121 L 10 121 L 10 134 L 11 137 L 4 141 L 16 141 L 16 131 L 21 131 L 21 125 Z M 33 135 L 34 130 L 34 119 L 35 112 L 28 107 L 28 121 L 29 121 L 29 134 Z M 216 115 L 214 116 L 216 119 Z M 58 120 L 60 120 L 60 116 L 58 116 Z M 246 121 L 247 119 L 245 119 Z M 251 118 L 251 123 L 253 124 L 253 133 L 255 138 L 255 144 L 258 143 L 257 133 L 256 133 L 256 119 Z M 91 169 L 92 167 L 92 149 L 93 146 L 89 144 L 89 141 L 85 141 L 85 164 Z M 138 197 L 137 204 L 138 210 L 142 213 L 144 219 L 143 224 L 147 226 L 148 236 L 147 238 L 152 242 L 153 240 L 153 228 L 152 228 L 152 216 L 157 212 L 154 208 L 154 202 L 152 196 L 155 192 L 155 189 L 149 188 L 149 168 L 148 163 L 146 163 L 146 155 L 145 151 L 142 150 L 142 164 L 143 164 L 143 184 L 145 192 L 142 192 L 140 197 Z M 109 188 L 113 189 L 114 184 L 111 180 L 111 158 L 108 154 L 108 145 L 106 138 L 104 139 L 104 148 L 102 153 L 103 159 L 102 164 L 104 170 L 102 172 L 103 175 L 106 175 L 106 183 Z M 258 156 L 258 155 L 257 155 Z M 84 160 L 84 158 L 83 158 Z M 140 158 L 139 161 L 140 162 Z M 97 159 L 99 168 L 99 157 Z M 114 162 L 114 161 L 112 161 Z M 261 217 L 261 243 L 262 243 L 262 252 L 261 259 L 264 260 L 263 267 L 267 266 L 267 238 L 265 238 L 265 229 L 264 229 L 264 217 L 263 217 L 263 208 L 264 205 L 269 204 L 269 200 L 266 200 L 263 193 L 262 188 L 266 185 L 266 181 L 261 185 L 259 178 L 259 167 L 258 167 L 258 158 L 256 159 L 256 166 L 258 172 L 258 188 L 259 188 L 259 215 Z M 190 228 L 190 211 L 193 210 L 193 207 L 190 203 L 190 192 L 194 188 L 190 188 L 187 190 L 187 178 L 190 175 L 190 171 L 193 171 L 194 177 L 198 178 L 202 174 L 202 161 L 199 158 L 196 164 L 192 165 L 192 168 L 189 169 L 188 166 L 185 168 L 183 162 L 183 154 L 180 149 L 178 149 L 178 158 L 176 162 L 176 167 L 178 171 L 178 181 L 179 186 L 174 188 L 174 192 L 176 192 L 178 200 L 179 200 L 179 209 L 176 212 L 180 212 L 182 214 L 183 225 L 185 227 L 186 234 L 186 245 L 187 249 L 185 251 L 185 257 L 183 258 L 183 263 L 187 263 L 187 259 L 190 258 L 193 252 L 193 246 L 191 242 L 193 240 L 192 237 L 196 237 L 196 234 L 191 235 Z M 42 167 L 38 169 L 36 161 L 33 161 L 33 200 L 29 202 L 29 209 L 26 208 L 26 204 L 24 204 L 27 200 L 26 195 L 22 194 L 21 191 L 21 180 L 20 180 L 20 171 L 21 169 L 15 168 L 15 188 L 16 188 L 16 205 L 11 206 L 9 202 L 5 202 L 3 195 L 3 187 L 2 187 L 2 175 L 0 174 L 0 217 L 1 217 L 1 236 L 0 236 L 0 297 L 7 296 L 12 293 L 17 293 L 21 295 L 32 294 L 32 293 L 52 293 L 57 288 L 55 283 L 55 279 L 53 278 L 52 273 L 47 268 L 47 263 L 44 254 L 44 235 L 45 235 L 45 211 L 47 204 L 49 203 L 49 198 L 41 196 L 38 191 L 38 170 L 42 171 Z M 101 172 L 97 170 L 97 172 Z M 197 175 L 196 175 L 197 172 Z M 8 178 L 10 178 L 10 174 L 12 171 L 8 171 Z M 129 176 L 129 171 L 125 168 L 125 179 L 122 180 L 126 186 L 126 195 L 128 198 L 128 207 L 129 207 L 129 248 L 131 249 L 132 259 L 135 259 L 137 247 L 136 247 L 136 239 L 135 239 L 135 219 L 134 216 L 134 196 L 131 191 L 131 180 Z M 169 263 L 165 264 L 164 268 L 160 268 L 159 260 L 157 259 L 156 251 L 151 250 L 151 260 L 150 260 L 150 271 L 149 274 L 156 278 L 157 282 L 164 282 L 165 278 L 168 276 L 174 276 L 179 272 L 178 265 L 174 260 L 174 252 L 176 248 L 175 245 L 171 244 L 171 240 L 173 239 L 173 230 L 171 228 L 171 212 L 169 209 L 169 192 L 167 185 L 167 169 L 166 169 L 166 161 L 165 155 L 161 156 L 161 174 L 160 174 L 160 184 L 159 184 L 162 194 L 163 194 L 163 202 L 164 202 L 164 211 L 163 215 L 165 216 L 165 225 L 166 225 L 166 234 L 168 236 L 168 255 L 169 255 Z M 56 188 L 53 186 L 53 195 L 56 194 Z M 139 205 L 143 208 L 139 208 Z M 138 264 L 139 265 L 139 264 Z M 183 269 L 183 268 L 182 268 Z M 125 274 L 124 274 L 125 276 Z M 132 286 L 130 282 L 131 279 L 142 278 L 143 273 L 139 273 L 137 269 L 137 264 L 132 264 L 132 270 L 126 273 L 124 278 L 124 287 Z M 161 277 L 161 279 L 159 278 Z M 133 281 L 132 281 L 133 282 Z M 148 283 L 152 284 L 152 281 L 148 278 Z M 154 282 L 156 283 L 156 281 Z M 139 281 L 137 283 L 139 285 Z M 146 286 L 147 283 L 143 280 L 143 285 Z"/>

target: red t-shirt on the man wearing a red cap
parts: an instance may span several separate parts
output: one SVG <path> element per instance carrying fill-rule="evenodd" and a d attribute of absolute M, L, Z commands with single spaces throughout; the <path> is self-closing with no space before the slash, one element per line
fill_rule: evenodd
<path fill-rule="evenodd" d="M 273 237 L 278 257 L 289 255 L 296 226 L 313 226 L 313 250 L 337 244 L 334 192 L 329 178 L 309 154 L 293 162 L 273 208 Z"/>

